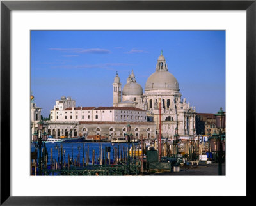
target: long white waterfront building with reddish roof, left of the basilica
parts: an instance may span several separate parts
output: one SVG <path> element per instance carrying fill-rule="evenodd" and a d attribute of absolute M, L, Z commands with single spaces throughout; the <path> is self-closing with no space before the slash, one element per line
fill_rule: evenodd
<path fill-rule="evenodd" d="M 154 122 L 147 122 L 145 110 L 134 107 L 76 107 L 76 101 L 65 96 L 56 101 L 50 120 L 44 121 L 45 131 L 54 138 L 101 135 L 108 140 L 124 136 L 127 124 L 131 125 L 135 138 L 141 135 L 155 137 L 156 126 Z"/>

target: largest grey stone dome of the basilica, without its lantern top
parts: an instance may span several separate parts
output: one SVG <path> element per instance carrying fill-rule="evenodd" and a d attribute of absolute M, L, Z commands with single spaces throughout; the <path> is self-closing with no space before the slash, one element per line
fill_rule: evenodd
<path fill-rule="evenodd" d="M 155 71 L 148 77 L 145 85 L 146 90 L 167 89 L 179 91 L 177 79 L 169 71 Z"/>

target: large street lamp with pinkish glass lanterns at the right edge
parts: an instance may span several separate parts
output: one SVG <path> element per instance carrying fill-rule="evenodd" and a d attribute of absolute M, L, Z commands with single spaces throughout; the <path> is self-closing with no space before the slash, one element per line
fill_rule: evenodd
<path fill-rule="evenodd" d="M 226 115 L 224 114 L 222 108 L 218 111 L 217 114 L 214 114 L 216 117 L 216 128 L 219 129 L 219 135 L 214 133 L 212 138 L 210 138 L 211 150 L 212 152 L 217 152 L 218 159 L 218 175 L 222 175 L 222 163 L 225 161 L 225 133 L 221 132 L 221 129 L 225 128 Z"/>

